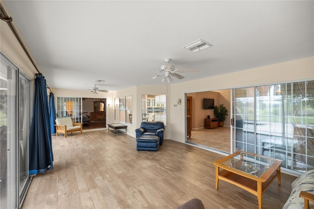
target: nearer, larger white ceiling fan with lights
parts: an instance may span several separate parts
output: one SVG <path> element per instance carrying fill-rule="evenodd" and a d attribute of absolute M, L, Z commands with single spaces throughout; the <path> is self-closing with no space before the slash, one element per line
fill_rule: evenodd
<path fill-rule="evenodd" d="M 157 76 L 154 76 L 153 79 L 159 77 L 159 76 L 164 76 L 161 79 L 161 82 L 167 81 L 167 82 L 171 82 L 172 78 L 171 76 L 178 78 L 178 79 L 183 79 L 184 76 L 181 76 L 178 73 L 196 73 L 196 72 L 200 72 L 200 69 L 194 68 L 194 69 L 178 69 L 175 70 L 175 66 L 174 65 L 170 65 L 169 62 L 171 61 L 170 58 L 165 58 L 165 64 L 160 66 L 160 71 L 157 71 L 157 73 L 160 73 Z"/>

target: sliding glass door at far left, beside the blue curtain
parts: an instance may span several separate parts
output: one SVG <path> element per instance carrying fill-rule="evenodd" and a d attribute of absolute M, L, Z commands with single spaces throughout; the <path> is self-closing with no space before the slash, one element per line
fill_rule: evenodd
<path fill-rule="evenodd" d="M 0 209 L 8 209 L 21 206 L 30 183 L 31 81 L 0 55 Z"/>

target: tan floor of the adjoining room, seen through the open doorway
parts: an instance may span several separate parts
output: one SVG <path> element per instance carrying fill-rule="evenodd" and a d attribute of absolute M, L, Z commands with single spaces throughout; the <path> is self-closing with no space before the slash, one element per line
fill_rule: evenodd
<path fill-rule="evenodd" d="M 191 138 L 186 140 L 230 153 L 230 127 L 192 130 Z"/>

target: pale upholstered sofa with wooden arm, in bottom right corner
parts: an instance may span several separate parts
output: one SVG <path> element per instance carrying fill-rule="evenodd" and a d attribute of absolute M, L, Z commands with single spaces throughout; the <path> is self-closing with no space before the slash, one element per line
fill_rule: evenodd
<path fill-rule="evenodd" d="M 314 170 L 307 171 L 291 183 L 291 193 L 283 207 L 283 209 L 309 208 L 314 209 Z"/>

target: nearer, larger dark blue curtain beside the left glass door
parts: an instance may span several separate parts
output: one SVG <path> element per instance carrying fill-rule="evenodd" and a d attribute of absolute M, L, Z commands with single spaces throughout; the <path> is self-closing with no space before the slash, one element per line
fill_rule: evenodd
<path fill-rule="evenodd" d="M 53 169 L 52 138 L 46 80 L 36 75 L 33 115 L 29 134 L 29 175 Z"/>

